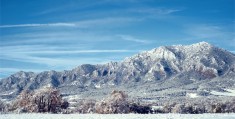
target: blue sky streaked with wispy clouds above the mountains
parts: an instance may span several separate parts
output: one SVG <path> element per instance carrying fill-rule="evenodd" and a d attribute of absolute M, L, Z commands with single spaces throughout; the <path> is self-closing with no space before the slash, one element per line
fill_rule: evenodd
<path fill-rule="evenodd" d="M 234 0 L 0 0 L 0 78 L 200 41 L 235 51 Z"/>

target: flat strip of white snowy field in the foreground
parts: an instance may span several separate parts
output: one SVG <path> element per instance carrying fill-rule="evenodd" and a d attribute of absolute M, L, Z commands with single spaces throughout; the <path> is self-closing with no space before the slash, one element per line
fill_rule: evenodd
<path fill-rule="evenodd" d="M 1 114 L 0 119 L 235 119 L 233 114 Z"/>

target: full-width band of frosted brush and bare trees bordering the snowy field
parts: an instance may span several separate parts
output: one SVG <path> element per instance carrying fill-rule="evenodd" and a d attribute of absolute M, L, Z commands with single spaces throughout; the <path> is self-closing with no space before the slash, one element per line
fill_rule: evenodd
<path fill-rule="evenodd" d="M 75 108 L 68 108 L 69 102 L 62 99 L 57 89 L 46 88 L 37 92 L 23 91 L 12 104 L 0 101 L 0 112 L 17 113 L 98 113 L 98 114 L 126 114 L 126 113 L 235 113 L 235 98 L 226 102 L 216 101 L 186 101 L 183 103 L 169 102 L 154 109 L 153 104 L 140 104 L 128 100 L 123 91 L 113 91 L 107 98 L 96 100 L 82 100 Z"/>

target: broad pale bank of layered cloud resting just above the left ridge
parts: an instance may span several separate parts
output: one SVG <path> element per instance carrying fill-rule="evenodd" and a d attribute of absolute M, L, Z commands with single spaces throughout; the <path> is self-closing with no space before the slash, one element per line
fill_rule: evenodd
<path fill-rule="evenodd" d="M 138 50 L 128 49 L 85 49 L 80 47 L 16 45 L 0 47 L 0 77 L 6 77 L 18 71 L 41 72 L 45 70 L 69 70 L 81 64 L 104 64 L 119 61 L 127 54 Z M 4 62 L 17 63 L 20 66 L 5 65 Z M 26 65 L 27 64 L 27 65 Z M 29 64 L 31 66 L 29 66 Z"/>

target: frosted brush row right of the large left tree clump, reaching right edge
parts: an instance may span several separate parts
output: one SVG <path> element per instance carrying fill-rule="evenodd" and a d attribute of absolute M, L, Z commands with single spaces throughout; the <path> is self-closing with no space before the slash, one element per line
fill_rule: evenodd
<path fill-rule="evenodd" d="M 110 96 L 101 100 L 82 100 L 77 103 L 73 113 L 99 113 L 99 114 L 154 114 L 154 113 L 181 113 L 181 114 L 202 114 L 202 113 L 234 113 L 235 99 L 224 103 L 216 102 L 194 102 L 185 103 L 169 102 L 161 105 L 158 109 L 152 108 L 153 104 L 140 104 L 128 101 L 128 96 L 122 91 L 113 91 Z"/>

